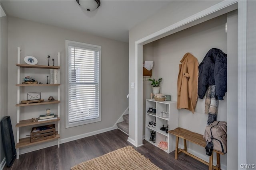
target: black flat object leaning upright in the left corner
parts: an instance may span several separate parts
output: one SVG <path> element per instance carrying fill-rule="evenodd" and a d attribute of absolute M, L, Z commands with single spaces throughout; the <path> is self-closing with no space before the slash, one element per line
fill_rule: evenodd
<path fill-rule="evenodd" d="M 16 159 L 15 143 L 12 131 L 12 123 L 10 116 L 5 116 L 1 120 L 1 134 L 2 142 L 4 147 L 4 154 L 6 165 L 8 167 L 12 166 L 14 160 Z"/>

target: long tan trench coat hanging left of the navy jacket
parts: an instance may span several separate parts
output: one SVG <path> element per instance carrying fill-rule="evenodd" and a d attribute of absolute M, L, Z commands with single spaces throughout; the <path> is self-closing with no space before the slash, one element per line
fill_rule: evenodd
<path fill-rule="evenodd" d="M 198 60 L 186 53 L 180 63 L 177 109 L 188 109 L 194 113 L 198 98 Z"/>

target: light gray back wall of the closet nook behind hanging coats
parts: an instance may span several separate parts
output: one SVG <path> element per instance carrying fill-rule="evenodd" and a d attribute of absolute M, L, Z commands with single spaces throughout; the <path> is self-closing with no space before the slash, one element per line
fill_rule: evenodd
<path fill-rule="evenodd" d="M 211 48 L 218 48 L 227 53 L 226 22 L 227 15 L 224 14 L 143 46 L 143 51 L 150 51 L 150 49 L 153 51 L 154 69 L 152 77 L 156 79 L 163 78 L 160 86 L 162 94 L 170 94 L 172 100 L 177 101 L 179 64 L 185 53 L 189 52 L 194 55 L 199 63 L 202 62 Z M 148 84 L 143 86 L 143 90 Z M 146 89 L 149 90 L 146 94 L 152 92 L 151 88 Z M 194 114 L 186 109 L 179 109 L 179 127 L 204 134 L 208 118 L 208 115 L 204 114 L 204 106 L 205 98 L 203 100 L 198 99 Z M 227 94 L 224 96 L 223 101 L 219 101 L 217 120 L 227 121 Z M 183 145 L 183 141 L 180 141 L 180 144 Z M 175 146 L 175 143 L 169 145 Z M 204 148 L 188 143 L 188 149 L 189 152 L 208 161 Z M 226 155 L 221 156 L 221 164 L 222 168 L 225 169 Z"/>

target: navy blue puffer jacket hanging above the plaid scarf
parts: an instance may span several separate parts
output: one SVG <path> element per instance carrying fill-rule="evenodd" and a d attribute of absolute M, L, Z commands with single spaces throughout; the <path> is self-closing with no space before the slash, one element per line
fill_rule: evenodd
<path fill-rule="evenodd" d="M 198 98 L 204 98 L 208 86 L 216 85 L 217 99 L 223 100 L 227 91 L 227 54 L 210 49 L 198 68 Z"/>

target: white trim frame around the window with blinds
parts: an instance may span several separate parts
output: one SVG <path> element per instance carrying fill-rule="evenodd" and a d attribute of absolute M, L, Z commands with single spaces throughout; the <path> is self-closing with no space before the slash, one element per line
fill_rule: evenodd
<path fill-rule="evenodd" d="M 68 56 L 68 46 L 69 45 L 73 45 L 75 47 L 82 47 L 82 48 L 85 48 L 87 46 L 90 48 L 100 49 L 100 52 L 99 52 L 99 72 L 100 72 L 100 75 L 99 75 L 99 88 L 100 88 L 99 99 L 100 99 L 100 105 L 99 105 L 99 117 L 98 118 L 84 120 L 84 121 L 80 121 L 80 122 L 74 122 L 74 123 L 68 122 L 68 57 L 69 57 Z M 65 75 L 66 76 L 66 118 L 65 118 L 66 119 L 66 128 L 80 126 L 80 125 L 86 125 L 89 123 L 95 123 L 95 122 L 101 121 L 101 46 L 66 40 L 66 72 L 65 73 L 66 73 L 66 75 Z"/>

